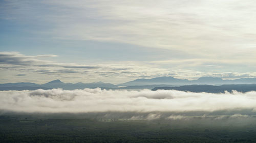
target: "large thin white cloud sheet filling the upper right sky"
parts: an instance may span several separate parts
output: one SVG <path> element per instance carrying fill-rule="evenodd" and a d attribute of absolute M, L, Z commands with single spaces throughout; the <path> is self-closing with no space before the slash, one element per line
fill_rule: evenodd
<path fill-rule="evenodd" d="M 63 39 L 111 41 L 208 59 L 255 53 L 254 1 L 48 1 L 65 7 L 51 31 Z M 84 15 L 82 15 L 84 14 Z M 72 20 L 70 20 L 72 19 Z M 65 22 L 63 22 L 63 21 Z M 75 34 L 74 34 L 75 33 Z M 220 52 L 221 51 L 221 52 Z M 242 54 L 242 55 L 241 55 Z M 185 56 L 184 56 L 185 57 Z M 184 58 L 183 57 L 183 58 Z"/>

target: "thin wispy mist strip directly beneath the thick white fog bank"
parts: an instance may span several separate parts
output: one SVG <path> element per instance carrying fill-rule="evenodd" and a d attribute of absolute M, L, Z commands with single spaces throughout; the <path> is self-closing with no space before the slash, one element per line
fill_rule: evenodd
<path fill-rule="evenodd" d="M 177 128 L 256 127 L 256 115 L 249 110 L 229 112 L 88 112 L 88 113 L 25 113 L 1 111 L 0 121 L 16 122 L 138 122 L 165 124 Z M 223 115 L 225 114 L 225 115 Z"/>

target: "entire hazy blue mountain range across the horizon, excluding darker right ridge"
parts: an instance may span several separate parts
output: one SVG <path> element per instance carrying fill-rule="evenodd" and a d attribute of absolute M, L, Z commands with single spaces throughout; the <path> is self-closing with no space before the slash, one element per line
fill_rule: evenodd
<path fill-rule="evenodd" d="M 0 90 L 36 90 L 36 89 L 56 89 L 61 88 L 65 90 L 84 89 L 84 88 L 101 88 L 101 89 L 154 89 L 157 87 L 178 87 L 182 85 L 194 84 L 208 84 L 208 85 L 222 85 L 222 84 L 256 84 L 256 78 L 240 78 L 240 79 L 222 79 L 219 77 L 200 77 L 196 80 L 179 79 L 172 76 L 156 77 L 151 79 L 136 79 L 133 81 L 111 84 L 104 82 L 93 83 L 65 83 L 59 79 L 47 82 L 45 84 L 36 84 L 31 82 L 17 82 L 0 84 Z"/>

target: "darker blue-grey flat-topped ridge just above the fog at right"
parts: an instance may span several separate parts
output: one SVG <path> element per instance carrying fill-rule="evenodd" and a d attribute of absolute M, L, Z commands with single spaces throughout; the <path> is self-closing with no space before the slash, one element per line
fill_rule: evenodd
<path fill-rule="evenodd" d="M 224 84 L 224 85 L 183 85 L 181 87 L 158 87 L 152 89 L 157 90 L 178 90 L 186 92 L 206 92 L 206 93 L 224 93 L 236 90 L 238 92 L 256 91 L 256 84 Z"/>

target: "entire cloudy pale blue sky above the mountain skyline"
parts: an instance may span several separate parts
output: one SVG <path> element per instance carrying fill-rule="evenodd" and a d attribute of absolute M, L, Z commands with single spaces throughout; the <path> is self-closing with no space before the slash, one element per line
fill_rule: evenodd
<path fill-rule="evenodd" d="M 255 1 L 0 1 L 0 83 L 256 77 Z"/>

